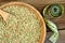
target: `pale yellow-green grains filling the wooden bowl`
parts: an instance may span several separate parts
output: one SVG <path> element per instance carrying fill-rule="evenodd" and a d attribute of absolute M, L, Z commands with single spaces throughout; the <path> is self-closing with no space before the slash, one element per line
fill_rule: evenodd
<path fill-rule="evenodd" d="M 9 19 L 0 17 L 0 43 L 38 43 L 40 24 L 36 13 L 24 6 L 10 5 L 3 9 Z"/>

